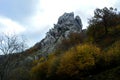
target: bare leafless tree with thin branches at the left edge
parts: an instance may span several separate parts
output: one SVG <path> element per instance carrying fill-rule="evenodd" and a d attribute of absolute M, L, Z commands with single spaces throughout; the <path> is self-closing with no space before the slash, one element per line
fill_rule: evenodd
<path fill-rule="evenodd" d="M 0 36 L 0 80 L 6 80 L 13 54 L 23 52 L 26 48 L 25 40 L 17 35 Z"/>

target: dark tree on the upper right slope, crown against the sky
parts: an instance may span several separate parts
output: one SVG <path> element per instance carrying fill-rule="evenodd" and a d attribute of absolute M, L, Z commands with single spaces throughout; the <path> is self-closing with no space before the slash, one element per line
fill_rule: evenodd
<path fill-rule="evenodd" d="M 94 39 L 107 35 L 110 28 L 120 24 L 120 12 L 116 8 L 95 9 L 94 16 L 88 20 L 88 35 Z"/>

